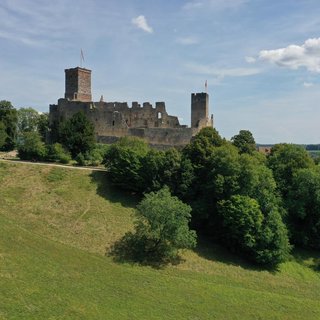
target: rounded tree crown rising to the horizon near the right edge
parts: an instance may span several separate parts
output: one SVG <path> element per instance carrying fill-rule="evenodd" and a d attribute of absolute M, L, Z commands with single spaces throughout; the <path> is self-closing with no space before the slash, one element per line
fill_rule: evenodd
<path fill-rule="evenodd" d="M 281 195 L 286 198 L 297 170 L 311 168 L 314 162 L 302 147 L 283 143 L 272 148 L 268 166 L 273 171 Z"/>

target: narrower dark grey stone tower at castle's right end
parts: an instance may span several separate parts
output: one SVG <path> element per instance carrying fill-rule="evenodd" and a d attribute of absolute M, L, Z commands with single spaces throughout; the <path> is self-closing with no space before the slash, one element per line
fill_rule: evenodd
<path fill-rule="evenodd" d="M 206 92 L 191 94 L 191 127 L 199 130 L 213 126 L 213 116 L 209 119 L 209 95 Z"/>

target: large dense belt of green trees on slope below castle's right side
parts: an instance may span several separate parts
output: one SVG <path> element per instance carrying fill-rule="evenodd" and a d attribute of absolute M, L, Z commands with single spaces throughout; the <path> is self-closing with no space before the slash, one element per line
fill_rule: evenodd
<path fill-rule="evenodd" d="M 249 131 L 228 142 L 205 128 L 182 151 L 123 138 L 105 165 L 122 188 L 166 186 L 191 206 L 192 228 L 255 263 L 276 266 L 292 245 L 320 247 L 320 171 L 298 146 L 279 144 L 265 157 Z"/>

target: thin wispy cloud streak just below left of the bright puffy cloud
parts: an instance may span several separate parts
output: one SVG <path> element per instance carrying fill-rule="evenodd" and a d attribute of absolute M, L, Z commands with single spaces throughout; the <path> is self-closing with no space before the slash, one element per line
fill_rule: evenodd
<path fill-rule="evenodd" d="M 218 78 L 224 77 L 247 77 L 260 73 L 257 68 L 216 68 L 212 65 L 189 64 L 187 67 L 197 73 L 203 75 L 216 76 Z"/>

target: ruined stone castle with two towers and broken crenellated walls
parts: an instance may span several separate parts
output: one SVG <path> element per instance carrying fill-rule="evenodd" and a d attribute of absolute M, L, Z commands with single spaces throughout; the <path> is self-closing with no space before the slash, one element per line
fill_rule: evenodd
<path fill-rule="evenodd" d="M 97 142 L 113 143 L 120 137 L 135 136 L 145 139 L 157 148 L 182 147 L 199 130 L 213 126 L 209 118 L 209 95 L 191 94 L 191 127 L 180 125 L 178 117 L 167 113 L 164 102 L 149 102 L 141 106 L 132 102 L 92 101 L 91 70 L 71 68 L 65 70 L 65 96 L 58 104 L 50 105 L 50 126 L 58 124 L 82 111 L 93 123 Z"/>

